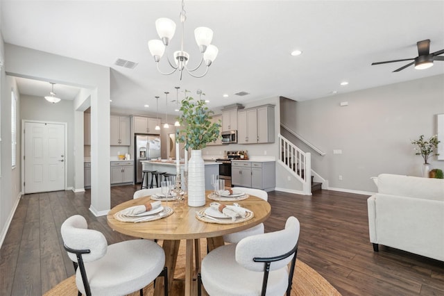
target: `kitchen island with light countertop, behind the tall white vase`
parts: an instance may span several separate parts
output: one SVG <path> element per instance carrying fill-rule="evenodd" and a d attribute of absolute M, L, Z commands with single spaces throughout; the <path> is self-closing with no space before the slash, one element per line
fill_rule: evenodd
<path fill-rule="evenodd" d="M 141 161 L 142 170 L 155 170 L 158 172 L 166 172 L 168 174 L 176 174 L 176 161 Z M 213 190 L 211 185 L 211 175 L 219 174 L 220 163 L 205 161 L 205 190 Z M 180 175 L 183 177 L 184 163 L 180 163 Z M 183 183 L 183 180 L 182 180 Z"/>

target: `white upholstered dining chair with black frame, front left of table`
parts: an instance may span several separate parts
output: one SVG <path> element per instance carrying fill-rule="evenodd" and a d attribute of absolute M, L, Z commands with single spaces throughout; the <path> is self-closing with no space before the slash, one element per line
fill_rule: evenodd
<path fill-rule="evenodd" d="M 100 231 L 87 229 L 85 217 L 74 215 L 63 222 L 62 239 L 76 270 L 78 295 L 127 295 L 164 276 L 167 268 L 162 247 L 151 240 L 126 240 L 108 245 Z"/>

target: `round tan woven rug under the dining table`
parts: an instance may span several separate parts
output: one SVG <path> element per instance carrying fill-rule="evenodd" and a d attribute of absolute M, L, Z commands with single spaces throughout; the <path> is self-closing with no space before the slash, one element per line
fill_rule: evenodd
<path fill-rule="evenodd" d="M 202 244 L 202 258 L 205 256 L 206 245 Z M 180 242 L 178 261 L 176 263 L 175 279 L 185 277 L 185 258 L 180 256 L 185 254 L 185 241 Z M 57 286 L 49 290 L 44 296 L 77 295 L 76 279 L 73 275 L 65 281 L 58 283 Z M 153 283 L 144 288 L 144 295 L 153 295 Z M 296 268 L 293 274 L 293 285 L 291 286 L 291 296 L 302 295 L 341 295 L 321 274 L 314 271 L 307 264 L 296 260 Z M 139 291 L 130 294 L 130 296 L 139 296 Z"/>

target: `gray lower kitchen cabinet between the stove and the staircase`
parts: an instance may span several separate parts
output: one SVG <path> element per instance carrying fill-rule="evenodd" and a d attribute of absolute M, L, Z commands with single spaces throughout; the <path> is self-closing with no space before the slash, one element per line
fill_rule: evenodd
<path fill-rule="evenodd" d="M 231 183 L 234 186 L 273 190 L 275 181 L 275 162 L 232 161 Z"/>

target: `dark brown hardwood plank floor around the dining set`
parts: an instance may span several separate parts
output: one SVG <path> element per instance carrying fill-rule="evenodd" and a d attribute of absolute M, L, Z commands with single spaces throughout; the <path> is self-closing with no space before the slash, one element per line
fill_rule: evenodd
<path fill-rule="evenodd" d="M 131 199 L 134 186 L 111 190 L 111 206 Z M 108 243 L 129 237 L 89 212 L 89 190 L 24 195 L 0 249 L 0 295 L 42 295 L 74 274 L 62 247 L 60 225 L 86 217 Z M 312 197 L 269 192 L 266 231 L 282 229 L 287 217 L 301 224 L 298 260 L 319 272 L 343 295 L 444 295 L 444 263 L 380 246 L 368 239 L 367 196 L 321 190 Z"/>

